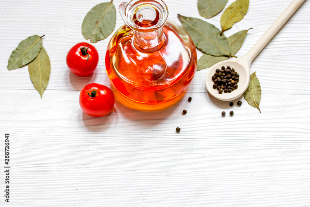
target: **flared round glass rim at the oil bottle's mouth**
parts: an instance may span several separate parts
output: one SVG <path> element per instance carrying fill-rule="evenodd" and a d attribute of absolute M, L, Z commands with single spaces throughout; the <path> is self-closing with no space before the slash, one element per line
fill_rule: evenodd
<path fill-rule="evenodd" d="M 147 9 L 147 12 L 159 13 L 158 22 L 155 25 L 142 27 L 135 23 L 134 14 L 139 13 L 139 11 Z M 153 10 L 153 11 L 152 11 Z M 125 24 L 131 29 L 139 32 L 152 32 L 157 29 L 162 28 L 168 19 L 168 7 L 162 0 L 131 0 L 126 8 L 124 14 Z"/>

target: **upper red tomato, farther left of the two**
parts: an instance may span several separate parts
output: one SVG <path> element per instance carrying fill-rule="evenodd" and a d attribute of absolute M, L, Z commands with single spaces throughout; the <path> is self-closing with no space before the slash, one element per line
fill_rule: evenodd
<path fill-rule="evenodd" d="M 88 43 L 74 45 L 67 54 L 68 68 L 78 76 L 84 77 L 92 74 L 98 65 L 98 61 L 98 51 Z"/>

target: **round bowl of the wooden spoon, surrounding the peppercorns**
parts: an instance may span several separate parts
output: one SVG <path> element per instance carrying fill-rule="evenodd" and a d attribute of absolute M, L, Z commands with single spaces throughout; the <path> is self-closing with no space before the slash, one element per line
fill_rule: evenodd
<path fill-rule="evenodd" d="M 237 83 L 238 88 L 230 93 L 223 92 L 222 94 L 220 94 L 218 90 L 213 88 L 214 82 L 212 80 L 212 76 L 215 74 L 215 70 L 216 69 L 221 70 L 222 66 L 224 66 L 225 68 L 229 66 L 232 69 L 235 69 L 235 71 L 239 74 L 239 82 Z M 208 74 L 206 76 L 206 87 L 208 89 L 208 92 L 215 98 L 222 101 L 232 101 L 241 97 L 246 91 L 246 89 L 249 87 L 249 83 L 250 83 L 250 65 L 246 61 L 246 57 L 219 62 L 209 69 Z"/>

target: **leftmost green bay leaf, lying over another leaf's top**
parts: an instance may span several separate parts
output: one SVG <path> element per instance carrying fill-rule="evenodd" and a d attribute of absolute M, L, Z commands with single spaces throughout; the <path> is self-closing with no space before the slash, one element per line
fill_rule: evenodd
<path fill-rule="evenodd" d="M 23 65 L 27 65 L 38 56 L 41 48 L 42 39 L 38 35 L 33 35 L 24 39 L 18 44 L 16 49 L 13 50 L 7 64 L 7 69 L 14 70 Z"/>

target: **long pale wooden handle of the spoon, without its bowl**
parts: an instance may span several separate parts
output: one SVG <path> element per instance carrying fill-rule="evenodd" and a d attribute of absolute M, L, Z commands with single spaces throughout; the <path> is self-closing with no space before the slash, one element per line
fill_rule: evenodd
<path fill-rule="evenodd" d="M 269 27 L 263 36 L 255 43 L 255 45 L 246 54 L 246 59 L 251 63 L 255 57 L 263 50 L 263 48 L 272 40 L 277 32 L 285 25 L 291 16 L 306 0 L 293 0 L 290 5 L 283 11 L 278 19 Z"/>

